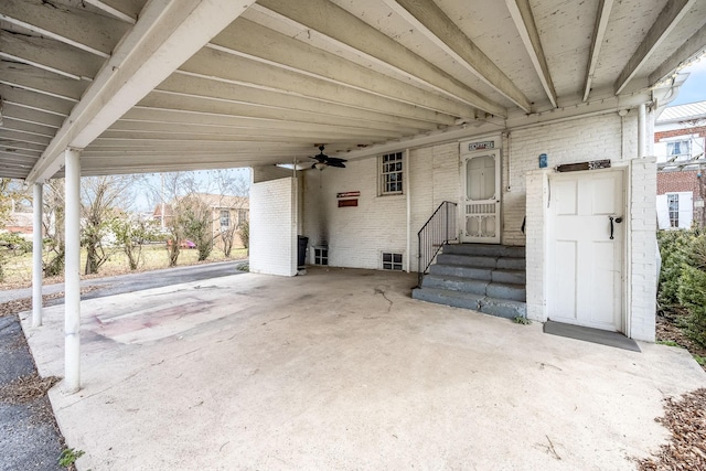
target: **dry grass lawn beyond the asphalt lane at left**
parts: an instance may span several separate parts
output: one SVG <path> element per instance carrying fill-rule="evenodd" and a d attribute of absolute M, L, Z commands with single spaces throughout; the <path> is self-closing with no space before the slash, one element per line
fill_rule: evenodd
<path fill-rule="evenodd" d="M 115 275 L 124 275 L 131 272 L 128 266 L 128 260 L 120 248 L 106 249 L 109 254 L 109 259 L 99 269 L 98 274 L 85 276 L 82 275 L 82 279 L 109 277 Z M 179 253 L 178 266 L 208 264 L 213 261 L 225 260 L 238 260 L 247 257 L 246 248 L 233 248 L 231 251 L 231 258 L 226 258 L 217 247 L 214 247 L 213 251 L 205 261 L 197 261 L 199 250 L 196 249 L 182 249 Z M 46 259 L 46 257 L 44 257 Z M 86 251 L 81 250 L 81 269 L 84 270 L 86 264 Z M 136 271 L 150 271 L 159 270 L 161 268 L 169 268 L 169 257 L 167 254 L 167 246 L 164 244 L 146 245 L 142 248 L 142 257 L 140 265 Z M 44 283 L 51 285 L 54 282 L 62 282 L 63 277 L 45 278 Z M 0 289 L 17 289 L 22 287 L 29 287 L 32 283 L 32 254 L 23 255 L 10 255 L 4 265 L 4 280 L 0 282 Z"/>

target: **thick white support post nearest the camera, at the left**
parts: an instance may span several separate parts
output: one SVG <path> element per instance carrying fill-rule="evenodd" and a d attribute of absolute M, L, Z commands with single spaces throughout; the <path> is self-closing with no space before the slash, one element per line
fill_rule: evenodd
<path fill-rule="evenodd" d="M 81 160 L 79 151 L 66 149 L 65 217 L 66 260 L 64 275 L 64 393 L 81 388 Z"/>

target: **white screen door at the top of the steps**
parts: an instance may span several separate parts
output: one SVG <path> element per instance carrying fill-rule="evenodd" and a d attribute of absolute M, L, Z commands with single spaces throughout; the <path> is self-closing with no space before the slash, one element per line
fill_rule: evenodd
<path fill-rule="evenodd" d="M 461 153 L 461 242 L 500 244 L 500 150 Z"/>

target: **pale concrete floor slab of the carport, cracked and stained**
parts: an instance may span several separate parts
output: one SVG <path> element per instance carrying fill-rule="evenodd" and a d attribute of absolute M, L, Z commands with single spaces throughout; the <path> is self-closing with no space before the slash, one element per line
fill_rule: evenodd
<path fill-rule="evenodd" d="M 706 386 L 642 353 L 410 299 L 415 275 L 239 275 L 83 302 L 83 384 L 50 393 L 82 470 L 632 470 L 662 399 Z M 24 323 L 62 375 L 63 307 Z"/>

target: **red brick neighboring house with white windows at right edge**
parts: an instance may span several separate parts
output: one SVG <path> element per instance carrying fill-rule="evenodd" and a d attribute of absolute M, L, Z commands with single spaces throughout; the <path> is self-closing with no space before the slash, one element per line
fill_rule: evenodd
<path fill-rule="evenodd" d="M 659 228 L 704 226 L 706 101 L 665 108 L 654 125 Z"/>

